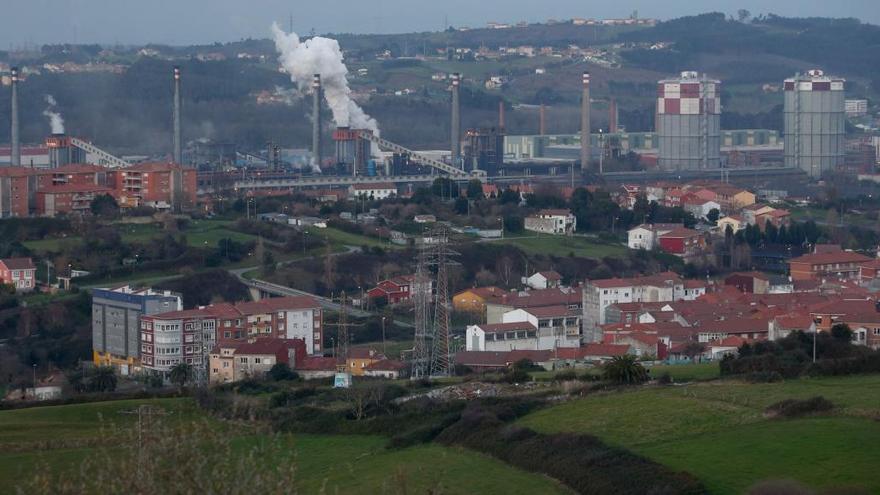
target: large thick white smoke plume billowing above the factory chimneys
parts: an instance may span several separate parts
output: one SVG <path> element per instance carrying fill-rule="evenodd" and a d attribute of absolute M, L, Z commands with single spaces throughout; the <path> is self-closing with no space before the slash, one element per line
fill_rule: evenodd
<path fill-rule="evenodd" d="M 321 75 L 324 98 L 337 127 L 369 129 L 379 135 L 376 120 L 351 99 L 348 68 L 342 61 L 338 41 L 321 36 L 300 41 L 296 33 L 285 33 L 277 23 L 272 24 L 272 35 L 279 53 L 278 61 L 300 91 L 307 92 L 312 76 Z"/>

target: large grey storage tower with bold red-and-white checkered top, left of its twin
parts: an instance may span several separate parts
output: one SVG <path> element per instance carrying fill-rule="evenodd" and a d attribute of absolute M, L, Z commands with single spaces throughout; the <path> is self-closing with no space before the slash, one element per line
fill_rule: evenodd
<path fill-rule="evenodd" d="M 663 170 L 721 166 L 721 81 L 682 72 L 657 88 L 658 165 Z"/>

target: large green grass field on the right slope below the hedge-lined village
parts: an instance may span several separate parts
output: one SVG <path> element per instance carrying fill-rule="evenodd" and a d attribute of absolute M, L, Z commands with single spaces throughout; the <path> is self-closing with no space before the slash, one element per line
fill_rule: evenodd
<path fill-rule="evenodd" d="M 822 395 L 827 417 L 767 419 L 788 398 Z M 766 479 L 880 491 L 880 375 L 746 384 L 713 381 L 608 392 L 521 420 L 542 432 L 589 433 L 702 479 L 711 493 L 742 493 Z"/>

